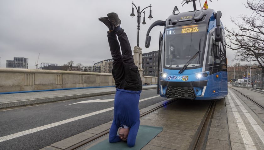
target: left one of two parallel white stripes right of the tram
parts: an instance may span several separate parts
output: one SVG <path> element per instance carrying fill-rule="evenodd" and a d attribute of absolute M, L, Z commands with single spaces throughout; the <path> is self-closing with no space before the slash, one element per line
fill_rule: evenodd
<path fill-rule="evenodd" d="M 252 141 L 252 139 L 251 139 L 251 137 L 247 131 L 247 128 L 245 127 L 245 124 L 244 124 L 242 118 L 240 117 L 240 115 L 239 115 L 239 113 L 238 113 L 238 111 L 237 111 L 237 109 L 233 103 L 233 100 L 231 99 L 231 97 L 229 95 L 229 91 L 228 91 L 227 97 L 228 97 L 228 101 L 229 101 L 229 104 L 230 104 L 231 109 L 232 109 L 232 113 L 234 114 L 234 117 L 236 119 L 239 131 L 241 133 L 241 137 L 244 141 L 244 144 L 246 144 L 246 146 L 245 146 L 246 149 L 250 149 L 250 150 L 254 149 L 255 150 L 256 149 L 255 144 L 253 143 L 253 141 Z M 252 145 L 252 147 L 248 147 L 247 145 Z"/>

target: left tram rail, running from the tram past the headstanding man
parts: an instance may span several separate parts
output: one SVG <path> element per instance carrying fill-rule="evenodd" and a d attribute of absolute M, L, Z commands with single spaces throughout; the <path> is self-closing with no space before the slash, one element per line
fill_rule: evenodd
<path fill-rule="evenodd" d="M 165 107 L 165 106 L 167 106 L 167 105 L 169 105 L 171 103 L 174 103 L 174 102 L 176 102 L 178 100 L 179 99 L 171 98 L 171 100 L 169 100 L 168 103 L 164 103 L 164 104 L 162 104 L 160 106 L 157 106 L 157 107 L 155 107 L 155 108 L 153 108 L 153 109 L 151 109 L 151 110 L 149 110 L 149 111 L 147 111 L 145 113 L 140 114 L 140 118 L 143 117 L 143 116 L 146 116 L 147 114 L 150 114 L 150 113 L 152 113 L 152 112 L 154 112 L 154 111 L 156 111 L 156 110 L 158 110 L 160 108 L 163 108 L 163 107 Z M 110 128 L 105 130 L 105 131 L 103 131 L 103 132 L 101 132 L 101 133 L 99 133 L 99 134 L 97 134 L 96 136 L 93 136 L 93 137 L 88 138 L 88 139 L 86 139 L 84 141 L 76 143 L 76 144 L 72 145 L 71 147 L 66 148 L 65 150 L 81 150 L 81 149 L 85 148 L 86 146 L 88 146 L 91 142 L 93 142 L 93 141 L 95 141 L 95 140 L 107 135 L 109 133 L 109 131 L 110 131 Z"/>

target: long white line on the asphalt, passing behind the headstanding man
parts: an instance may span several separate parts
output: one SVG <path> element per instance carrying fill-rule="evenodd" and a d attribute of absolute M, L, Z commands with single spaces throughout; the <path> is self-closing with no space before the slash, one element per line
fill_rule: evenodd
<path fill-rule="evenodd" d="M 150 98 L 141 99 L 140 102 L 146 101 L 146 100 L 152 99 L 152 98 L 157 98 L 157 97 L 159 97 L 159 95 L 158 96 L 153 96 L 153 97 L 150 97 Z M 30 134 L 30 133 L 35 133 L 35 132 L 38 132 L 38 131 L 41 131 L 41 130 L 45 130 L 45 129 L 48 129 L 48 128 L 52 128 L 52 127 L 56 127 L 56 126 L 59 126 L 59 125 L 65 124 L 65 123 L 69 123 L 69 122 L 73 122 L 73 121 L 76 121 L 76 120 L 79 120 L 79 119 L 90 117 L 90 116 L 93 116 L 93 115 L 96 115 L 96 114 L 99 114 L 99 113 L 104 113 L 104 112 L 107 112 L 107 111 L 110 111 L 110 110 L 113 110 L 113 109 L 114 109 L 114 107 L 111 107 L 111 108 L 99 110 L 99 111 L 96 111 L 96 112 L 93 112 L 93 113 L 88 113 L 88 114 L 85 114 L 85 115 L 77 116 L 77 117 L 74 117 L 74 118 L 69 118 L 69 119 L 66 119 L 66 120 L 63 120 L 63 121 L 59 121 L 59 122 L 56 122 L 56 123 L 51 123 L 51 124 L 47 124 L 47 125 L 44 125 L 44 126 L 41 126 L 41 127 L 29 129 L 29 130 L 22 131 L 22 132 L 19 132 L 19 133 L 14 133 L 14 134 L 10 134 L 10 135 L 7 135 L 7 136 L 3 136 L 3 137 L 0 137 L 0 143 L 4 142 L 4 141 L 7 141 L 7 140 L 10 140 L 10 139 L 13 139 L 13 138 L 21 137 L 23 135 L 27 135 L 27 134 Z"/>

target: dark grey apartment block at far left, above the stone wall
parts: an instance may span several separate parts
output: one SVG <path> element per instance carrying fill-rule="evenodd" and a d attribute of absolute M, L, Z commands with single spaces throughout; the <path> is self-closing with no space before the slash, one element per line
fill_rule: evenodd
<path fill-rule="evenodd" d="M 28 58 L 14 57 L 14 60 L 6 61 L 6 68 L 25 68 L 28 69 Z"/>

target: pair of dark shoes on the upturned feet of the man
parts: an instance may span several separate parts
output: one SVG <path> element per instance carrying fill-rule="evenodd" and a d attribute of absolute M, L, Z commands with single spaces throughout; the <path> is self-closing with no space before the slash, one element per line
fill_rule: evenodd
<path fill-rule="evenodd" d="M 103 22 L 108 28 L 114 28 L 120 26 L 121 20 L 118 15 L 114 12 L 108 13 L 107 17 L 98 18 L 99 21 Z"/>

